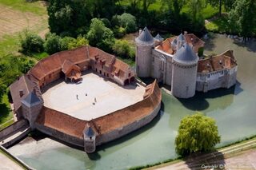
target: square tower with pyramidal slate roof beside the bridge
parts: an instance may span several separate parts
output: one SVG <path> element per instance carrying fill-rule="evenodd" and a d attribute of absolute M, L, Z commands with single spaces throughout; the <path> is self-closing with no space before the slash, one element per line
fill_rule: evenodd
<path fill-rule="evenodd" d="M 43 101 L 34 92 L 30 92 L 22 101 L 22 116 L 30 122 L 30 127 L 34 129 L 34 121 L 41 112 Z"/>

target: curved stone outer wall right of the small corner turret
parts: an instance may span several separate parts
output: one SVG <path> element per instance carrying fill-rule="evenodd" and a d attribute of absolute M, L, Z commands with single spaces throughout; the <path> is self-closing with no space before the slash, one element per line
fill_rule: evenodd
<path fill-rule="evenodd" d="M 118 139 L 119 137 L 125 136 L 126 134 L 137 130 L 138 128 L 142 128 L 142 126 L 150 123 L 158 115 L 159 110 L 161 109 L 161 102 L 158 106 L 153 110 L 152 113 L 149 113 L 146 117 L 143 117 L 140 120 L 134 121 L 133 123 L 126 125 L 124 127 L 116 128 L 111 132 L 102 134 L 97 136 L 96 138 L 96 146 L 100 144 L 104 144 L 111 140 Z"/>

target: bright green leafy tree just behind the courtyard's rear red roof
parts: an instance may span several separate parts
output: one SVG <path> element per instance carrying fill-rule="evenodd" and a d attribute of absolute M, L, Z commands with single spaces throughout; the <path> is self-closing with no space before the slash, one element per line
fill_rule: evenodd
<path fill-rule="evenodd" d="M 91 20 L 90 30 L 86 37 L 89 40 L 90 45 L 97 46 L 106 52 L 110 52 L 114 45 L 114 34 L 112 30 L 107 28 L 98 18 L 93 18 Z"/>

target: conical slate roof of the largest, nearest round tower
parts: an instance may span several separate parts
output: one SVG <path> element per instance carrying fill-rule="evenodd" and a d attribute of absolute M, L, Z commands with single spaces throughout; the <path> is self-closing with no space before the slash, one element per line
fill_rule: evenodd
<path fill-rule="evenodd" d="M 174 54 L 174 61 L 177 61 L 182 64 L 192 64 L 198 62 L 198 55 L 194 53 L 194 50 L 191 49 L 190 45 L 185 43 L 177 53 Z"/>

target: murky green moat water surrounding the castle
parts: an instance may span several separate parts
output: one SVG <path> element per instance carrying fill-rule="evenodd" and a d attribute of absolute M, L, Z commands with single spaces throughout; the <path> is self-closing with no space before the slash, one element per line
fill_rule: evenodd
<path fill-rule="evenodd" d="M 174 138 L 182 117 L 202 111 L 214 117 L 222 136 L 230 144 L 256 134 L 256 42 L 241 45 L 224 35 L 214 34 L 206 41 L 206 53 L 233 49 L 238 61 L 238 82 L 231 89 L 197 93 L 189 100 L 178 100 L 162 93 L 162 111 L 150 125 L 98 148 L 88 156 L 46 138 L 22 142 L 10 152 L 36 169 L 126 169 L 175 158 Z"/>

